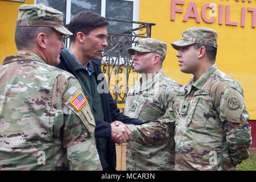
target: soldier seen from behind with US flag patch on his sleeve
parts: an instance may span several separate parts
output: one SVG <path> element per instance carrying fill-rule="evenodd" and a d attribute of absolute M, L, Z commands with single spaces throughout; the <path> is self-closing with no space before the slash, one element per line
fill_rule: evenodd
<path fill-rule="evenodd" d="M 63 14 L 19 7 L 17 55 L 0 67 L 0 169 L 100 170 L 95 122 L 81 85 L 55 68 L 64 48 Z M 26 41 L 27 40 L 27 41 Z"/>

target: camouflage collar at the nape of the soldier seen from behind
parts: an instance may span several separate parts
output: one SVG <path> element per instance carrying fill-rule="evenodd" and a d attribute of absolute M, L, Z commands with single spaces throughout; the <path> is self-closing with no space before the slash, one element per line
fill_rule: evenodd
<path fill-rule="evenodd" d="M 13 61 L 20 61 L 20 60 L 33 60 L 33 61 L 39 61 L 41 63 L 45 63 L 45 61 L 42 60 L 41 57 L 39 57 L 38 55 L 35 55 L 34 53 L 18 53 L 16 55 L 6 56 L 3 59 L 2 64 L 7 64 Z"/>

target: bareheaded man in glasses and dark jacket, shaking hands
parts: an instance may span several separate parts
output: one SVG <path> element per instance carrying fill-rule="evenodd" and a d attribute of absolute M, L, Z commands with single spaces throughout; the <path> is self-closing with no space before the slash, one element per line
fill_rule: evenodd
<path fill-rule="evenodd" d="M 120 113 L 108 88 L 104 88 L 107 84 L 101 71 L 99 56 L 107 46 L 108 25 L 103 16 L 93 11 L 81 11 L 75 15 L 67 27 L 73 33 L 70 36 L 70 48 L 63 49 L 61 63 L 57 67 L 70 72 L 79 80 L 95 118 L 95 138 L 102 168 L 115 170 L 114 141 L 127 142 L 131 133 L 126 125 L 115 126 L 113 122 L 121 121 L 134 125 L 141 125 L 143 122 Z M 98 89 L 105 92 L 99 92 Z M 113 137 L 111 141 L 111 134 L 112 137 L 120 135 L 120 139 L 117 141 L 118 137 Z"/>

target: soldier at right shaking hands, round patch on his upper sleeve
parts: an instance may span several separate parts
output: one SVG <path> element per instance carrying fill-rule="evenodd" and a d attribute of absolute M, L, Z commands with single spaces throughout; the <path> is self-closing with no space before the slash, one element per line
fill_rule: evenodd
<path fill-rule="evenodd" d="M 171 45 L 178 50 L 181 71 L 194 77 L 182 86 L 161 118 L 175 119 L 175 170 L 234 170 L 249 158 L 252 141 L 242 86 L 218 70 L 214 30 L 189 28 L 182 35 Z M 157 127 L 158 136 L 167 137 Z M 153 130 L 136 129 L 133 135 L 147 137 L 142 138 L 147 143 L 155 138 Z"/>

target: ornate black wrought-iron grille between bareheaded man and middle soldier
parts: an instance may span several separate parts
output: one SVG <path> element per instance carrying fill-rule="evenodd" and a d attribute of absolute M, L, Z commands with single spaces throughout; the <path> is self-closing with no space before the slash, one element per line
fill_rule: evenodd
<path fill-rule="evenodd" d="M 126 94 L 129 90 L 129 82 L 138 79 L 138 74 L 133 72 L 133 59 L 127 52 L 129 47 L 138 43 L 138 38 L 150 38 L 151 26 L 155 23 L 134 22 L 117 19 L 107 19 L 112 22 L 123 22 L 138 24 L 138 28 L 127 30 L 121 33 L 111 33 L 107 37 L 108 46 L 105 49 L 102 59 L 102 72 L 105 73 L 109 91 L 113 99 L 118 103 L 125 103 Z M 131 80 L 133 76 L 133 80 Z M 130 81 L 129 81 L 130 77 Z M 134 80 L 135 78 L 135 80 Z"/>

